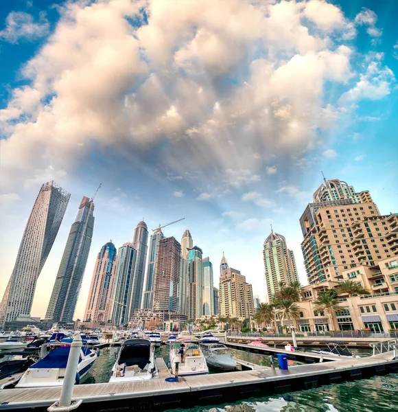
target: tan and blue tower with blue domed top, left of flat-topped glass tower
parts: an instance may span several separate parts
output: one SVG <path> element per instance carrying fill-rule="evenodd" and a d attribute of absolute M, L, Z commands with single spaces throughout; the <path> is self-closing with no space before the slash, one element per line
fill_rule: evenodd
<path fill-rule="evenodd" d="M 116 273 L 116 248 L 112 241 L 104 244 L 97 255 L 97 262 L 91 279 L 84 321 L 106 322 L 113 299 Z"/>

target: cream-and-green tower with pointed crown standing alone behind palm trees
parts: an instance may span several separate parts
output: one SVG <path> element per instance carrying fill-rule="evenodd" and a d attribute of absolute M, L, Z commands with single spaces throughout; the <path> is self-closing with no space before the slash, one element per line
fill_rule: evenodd
<path fill-rule="evenodd" d="M 279 282 L 289 284 L 299 280 L 293 251 L 288 249 L 284 236 L 271 231 L 264 242 L 263 256 L 269 297 L 279 290 Z"/>

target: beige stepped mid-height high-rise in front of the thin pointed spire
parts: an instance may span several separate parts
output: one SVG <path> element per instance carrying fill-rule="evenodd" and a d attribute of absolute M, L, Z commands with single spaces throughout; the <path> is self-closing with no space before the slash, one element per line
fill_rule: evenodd
<path fill-rule="evenodd" d="M 218 314 L 222 317 L 253 317 L 253 287 L 246 277 L 233 268 L 225 268 L 218 289 Z"/>

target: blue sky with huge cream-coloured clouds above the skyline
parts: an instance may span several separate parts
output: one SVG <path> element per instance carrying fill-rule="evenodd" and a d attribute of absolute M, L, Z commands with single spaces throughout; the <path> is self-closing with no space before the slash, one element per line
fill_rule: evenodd
<path fill-rule="evenodd" d="M 398 211 L 398 2 L 10 0 L 0 5 L 0 295 L 40 186 L 71 200 L 38 279 L 44 317 L 82 196 L 95 258 L 137 223 L 191 231 L 266 296 L 270 225 L 307 284 L 299 218 L 327 179 Z"/>

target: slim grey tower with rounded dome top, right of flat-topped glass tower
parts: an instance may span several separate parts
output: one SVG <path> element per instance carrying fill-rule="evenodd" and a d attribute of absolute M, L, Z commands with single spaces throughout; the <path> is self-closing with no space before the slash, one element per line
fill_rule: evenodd
<path fill-rule="evenodd" d="M 134 310 L 141 308 L 143 293 L 143 281 L 145 275 L 146 255 L 148 251 L 148 227 L 141 221 L 134 229 L 132 246 L 137 251 L 134 267 L 134 279 L 132 284 L 131 314 Z"/>

